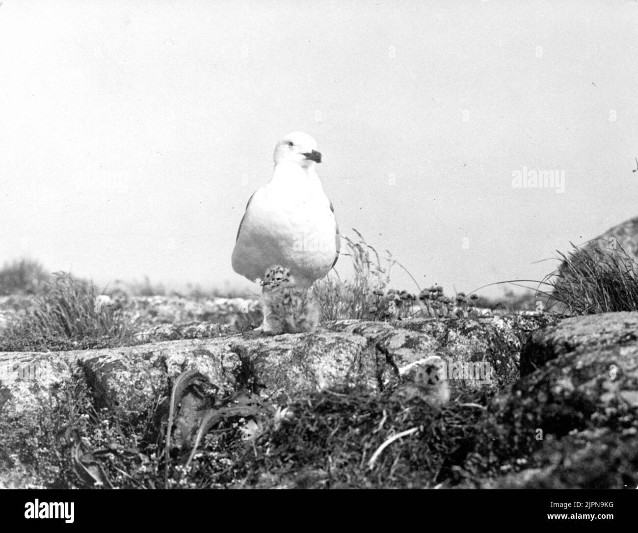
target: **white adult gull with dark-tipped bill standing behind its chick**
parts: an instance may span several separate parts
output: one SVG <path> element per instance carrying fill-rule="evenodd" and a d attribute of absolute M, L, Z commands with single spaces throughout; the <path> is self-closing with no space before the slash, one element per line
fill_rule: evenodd
<path fill-rule="evenodd" d="M 272 179 L 250 197 L 239 224 L 232 256 L 238 274 L 254 282 L 281 266 L 296 287 L 308 289 L 337 262 L 339 228 L 315 170 L 316 147 L 301 131 L 277 143 Z"/>

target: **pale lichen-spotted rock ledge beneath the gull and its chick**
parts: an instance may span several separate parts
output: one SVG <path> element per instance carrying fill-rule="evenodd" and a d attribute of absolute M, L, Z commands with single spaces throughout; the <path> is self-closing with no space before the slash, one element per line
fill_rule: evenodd
<path fill-rule="evenodd" d="M 454 391 L 482 387 L 491 379 L 498 384 L 516 379 L 521 331 L 548 320 L 541 315 L 393 323 L 343 320 L 313 334 L 272 337 L 229 334 L 226 326 L 207 322 L 158 324 L 147 332 L 148 338 L 182 336 L 182 340 L 48 354 L 4 352 L 0 364 L 8 368 L 40 362 L 50 369 L 48 379 L 57 383 L 81 371 L 96 405 L 117 406 L 122 413 L 143 412 L 170 379 L 191 369 L 227 391 L 249 384 L 266 396 L 352 384 L 374 391 L 394 386 L 412 366 L 439 356 L 447 364 L 445 378 Z M 193 340 L 184 339 L 191 336 Z M 487 364 L 493 371 L 480 375 L 484 369 L 474 363 Z M 4 381 L 6 394 L 11 395 L 11 387 L 20 387 L 17 405 L 31 403 L 29 393 L 22 390 L 24 383 Z M 38 386 L 48 388 L 41 381 Z"/>

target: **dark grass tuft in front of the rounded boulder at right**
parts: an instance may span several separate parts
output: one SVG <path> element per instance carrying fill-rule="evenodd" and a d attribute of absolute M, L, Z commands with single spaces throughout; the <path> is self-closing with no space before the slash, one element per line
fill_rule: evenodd
<path fill-rule="evenodd" d="M 638 263 L 622 246 L 570 244 L 574 251 L 569 256 L 558 251 L 563 262 L 545 278 L 556 276 L 553 300 L 575 315 L 638 310 Z"/>

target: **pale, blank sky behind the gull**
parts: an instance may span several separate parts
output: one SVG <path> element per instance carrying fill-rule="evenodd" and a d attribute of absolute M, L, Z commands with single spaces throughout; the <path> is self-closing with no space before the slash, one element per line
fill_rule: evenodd
<path fill-rule="evenodd" d="M 638 215 L 637 28 L 621 0 L 2 0 L 0 263 L 254 288 L 237 227 L 301 130 L 341 231 L 422 286 L 540 279 Z"/>

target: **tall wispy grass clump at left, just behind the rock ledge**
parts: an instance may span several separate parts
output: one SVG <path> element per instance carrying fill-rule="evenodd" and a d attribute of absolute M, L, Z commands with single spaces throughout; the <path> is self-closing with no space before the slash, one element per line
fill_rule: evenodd
<path fill-rule="evenodd" d="M 54 346 L 101 347 L 121 345 L 133 337 L 133 324 L 114 305 L 99 305 L 93 283 L 56 272 L 41 295 L 10 324 L 3 340 L 11 349 L 48 349 Z"/>

